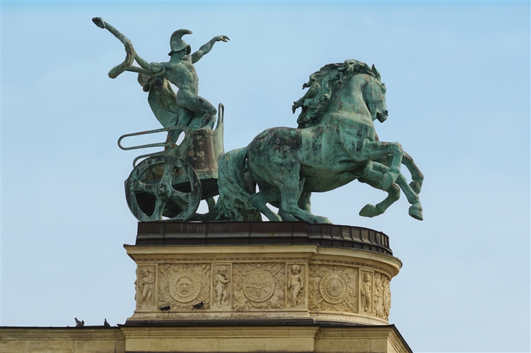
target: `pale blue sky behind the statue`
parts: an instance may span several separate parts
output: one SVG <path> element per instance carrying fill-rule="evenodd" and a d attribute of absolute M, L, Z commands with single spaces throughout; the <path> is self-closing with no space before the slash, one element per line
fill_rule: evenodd
<path fill-rule="evenodd" d="M 530 2 L 1 1 L 1 326 L 123 324 L 134 310 L 134 244 L 123 181 L 156 129 L 136 75 L 112 80 L 122 44 L 165 61 L 175 29 L 193 50 L 199 94 L 225 105 L 225 151 L 296 126 L 291 104 L 324 64 L 375 64 L 388 88 L 380 140 L 425 175 L 425 220 L 357 182 L 313 211 L 391 238 L 395 324 L 415 352 L 529 352 Z"/>

